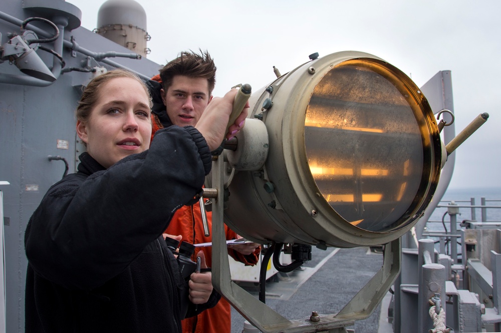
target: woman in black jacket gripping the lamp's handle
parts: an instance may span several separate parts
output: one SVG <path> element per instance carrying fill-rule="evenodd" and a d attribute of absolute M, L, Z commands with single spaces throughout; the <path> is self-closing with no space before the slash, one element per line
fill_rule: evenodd
<path fill-rule="evenodd" d="M 115 70 L 89 83 L 77 109 L 87 152 L 26 229 L 27 332 L 181 331 L 184 281 L 162 231 L 201 191 L 235 94 L 214 99 L 196 128 L 158 131 L 147 150 L 151 100 L 142 81 Z M 192 274 L 188 315 L 219 297 L 210 275 Z"/>

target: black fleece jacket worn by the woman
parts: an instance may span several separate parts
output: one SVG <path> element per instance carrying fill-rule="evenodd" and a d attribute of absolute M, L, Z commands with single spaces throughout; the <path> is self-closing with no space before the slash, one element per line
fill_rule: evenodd
<path fill-rule="evenodd" d="M 172 126 L 107 170 L 87 153 L 80 160 L 26 229 L 26 332 L 181 332 L 184 281 L 161 234 L 210 171 L 205 140 Z"/>

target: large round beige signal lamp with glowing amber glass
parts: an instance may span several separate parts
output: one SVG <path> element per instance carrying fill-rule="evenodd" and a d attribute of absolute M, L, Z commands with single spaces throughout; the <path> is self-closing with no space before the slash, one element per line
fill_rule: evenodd
<path fill-rule="evenodd" d="M 308 62 L 254 92 L 224 222 L 259 243 L 386 244 L 422 216 L 443 145 L 400 70 L 366 53 Z"/>

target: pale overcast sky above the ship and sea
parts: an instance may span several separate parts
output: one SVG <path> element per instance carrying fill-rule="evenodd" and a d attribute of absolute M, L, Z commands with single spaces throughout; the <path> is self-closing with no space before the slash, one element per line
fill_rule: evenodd
<path fill-rule="evenodd" d="M 182 50 L 209 51 L 215 96 L 239 83 L 258 90 L 275 79 L 273 66 L 285 74 L 315 52 L 373 54 L 419 87 L 450 70 L 456 134 L 480 113 L 490 118 L 456 150 L 449 188 L 501 192 L 500 1 L 136 1 L 147 15 L 148 59 L 163 65 Z M 81 9 L 84 28 L 97 28 L 104 1 L 68 2 Z"/>

